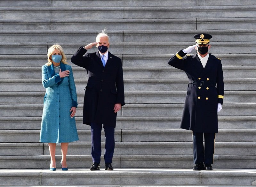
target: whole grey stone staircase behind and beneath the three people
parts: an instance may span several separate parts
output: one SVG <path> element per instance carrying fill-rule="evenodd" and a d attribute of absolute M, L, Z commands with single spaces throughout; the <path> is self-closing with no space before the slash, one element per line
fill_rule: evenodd
<path fill-rule="evenodd" d="M 255 12 L 254 0 L 0 0 L 0 185 L 255 185 Z M 104 27 L 124 70 L 115 170 L 89 171 L 90 128 L 82 124 L 87 75 L 69 63 L 79 141 L 69 144 L 69 170 L 50 172 L 48 145 L 38 143 L 47 49 L 60 44 L 70 62 Z M 225 83 L 210 172 L 191 169 L 192 133 L 179 129 L 188 79 L 167 64 L 201 32 L 213 35 L 210 53 L 221 58 Z M 60 160 L 60 145 L 56 155 Z"/>

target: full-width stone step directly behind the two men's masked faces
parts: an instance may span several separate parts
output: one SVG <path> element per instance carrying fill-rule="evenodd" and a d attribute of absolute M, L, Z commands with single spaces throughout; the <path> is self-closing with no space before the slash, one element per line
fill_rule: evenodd
<path fill-rule="evenodd" d="M 111 40 L 111 39 L 110 39 Z M 176 53 L 180 49 L 185 49 L 190 45 L 191 42 L 111 42 L 109 51 L 112 54 L 169 54 Z M 93 39 L 92 41 L 95 41 Z M 90 41 L 90 42 L 92 42 Z M 153 40 L 154 41 L 154 40 Z M 0 54 L 29 54 L 29 55 L 46 55 L 49 46 L 55 43 L 46 42 L 0 42 Z M 74 54 L 80 46 L 88 44 L 86 43 L 61 43 L 58 42 L 65 51 L 65 54 Z M 236 53 L 256 53 L 256 41 L 248 42 L 211 42 L 212 47 L 210 53 L 212 54 L 236 54 Z M 239 46 L 239 47 L 237 47 Z M 96 52 L 97 49 L 90 49 L 89 52 Z M 191 52 L 193 54 L 195 50 Z M 170 55 L 171 57 L 172 55 Z M 217 56 L 218 57 L 218 56 Z M 168 61 L 167 61 L 168 62 Z"/>

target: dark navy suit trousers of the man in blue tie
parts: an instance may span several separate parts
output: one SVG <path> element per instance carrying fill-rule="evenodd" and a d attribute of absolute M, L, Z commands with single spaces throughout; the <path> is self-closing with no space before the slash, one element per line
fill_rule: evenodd
<path fill-rule="evenodd" d="M 102 124 L 91 123 L 92 162 L 100 163 Z M 104 126 L 105 131 L 105 163 L 112 163 L 115 149 L 115 127 Z"/>

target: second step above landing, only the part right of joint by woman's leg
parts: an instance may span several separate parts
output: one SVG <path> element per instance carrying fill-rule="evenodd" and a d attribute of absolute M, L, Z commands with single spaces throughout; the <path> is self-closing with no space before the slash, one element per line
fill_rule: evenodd
<path fill-rule="evenodd" d="M 255 155 L 255 142 L 216 142 L 215 155 Z M 105 143 L 101 143 L 104 150 Z M 69 155 L 91 153 L 91 143 L 69 143 Z M 192 142 L 116 142 L 115 155 L 190 155 Z M 49 148 L 44 146 L 44 155 L 49 155 Z M 56 155 L 60 155 L 60 145 L 56 146 Z"/>

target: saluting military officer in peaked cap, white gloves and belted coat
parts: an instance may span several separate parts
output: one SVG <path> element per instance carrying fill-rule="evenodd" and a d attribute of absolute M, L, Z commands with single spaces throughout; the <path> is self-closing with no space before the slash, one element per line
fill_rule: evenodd
<path fill-rule="evenodd" d="M 212 36 L 194 38 L 196 45 L 177 52 L 168 64 L 185 71 L 189 79 L 180 128 L 193 131 L 193 170 L 212 170 L 217 112 L 224 98 L 223 72 L 220 59 L 208 53 Z M 197 53 L 187 55 L 192 49 Z"/>

